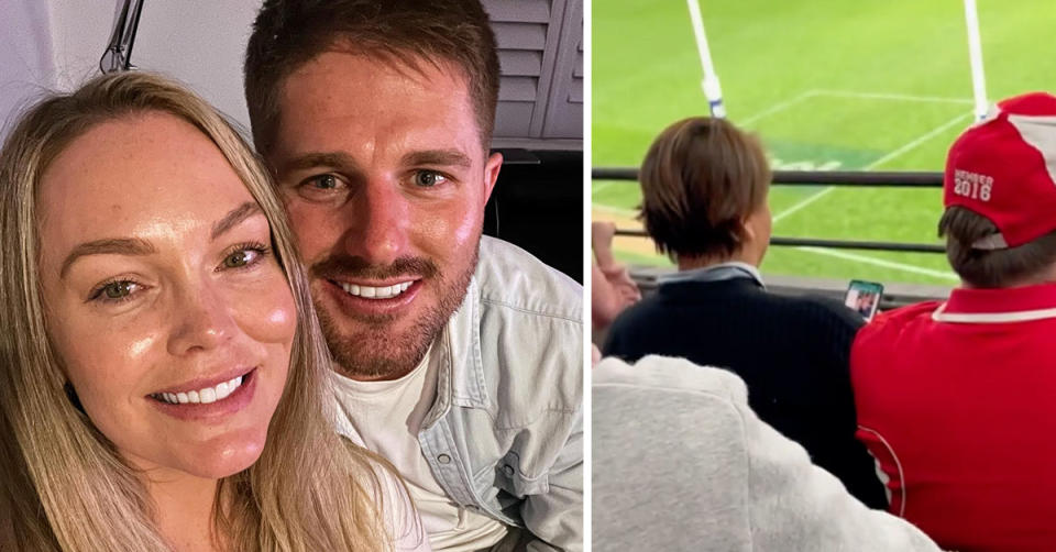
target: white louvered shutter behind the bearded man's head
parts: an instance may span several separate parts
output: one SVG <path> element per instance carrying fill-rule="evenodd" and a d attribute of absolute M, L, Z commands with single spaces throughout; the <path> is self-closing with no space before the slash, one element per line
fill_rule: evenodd
<path fill-rule="evenodd" d="M 484 0 L 484 7 L 502 64 L 495 145 L 582 140 L 581 0 Z"/>

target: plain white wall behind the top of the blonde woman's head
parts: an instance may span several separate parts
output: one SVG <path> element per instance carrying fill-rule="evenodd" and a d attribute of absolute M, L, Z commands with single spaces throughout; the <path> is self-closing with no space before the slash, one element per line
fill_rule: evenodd
<path fill-rule="evenodd" d="M 98 75 L 120 3 L 0 0 L 0 120 L 41 88 L 72 90 Z M 132 64 L 184 81 L 249 128 L 242 56 L 260 4 L 144 0 Z"/>

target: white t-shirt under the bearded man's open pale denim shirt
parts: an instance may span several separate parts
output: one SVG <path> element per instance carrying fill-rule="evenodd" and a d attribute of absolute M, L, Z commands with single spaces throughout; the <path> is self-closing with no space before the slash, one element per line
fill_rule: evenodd
<path fill-rule="evenodd" d="M 358 382 L 334 373 L 338 415 L 346 435 L 393 463 L 407 482 L 435 551 L 472 552 L 498 543 L 505 525 L 455 504 L 437 483 L 421 454 L 418 430 L 437 395 L 437 367 L 429 354 L 406 376 Z M 344 431 L 342 431 L 344 432 Z"/>

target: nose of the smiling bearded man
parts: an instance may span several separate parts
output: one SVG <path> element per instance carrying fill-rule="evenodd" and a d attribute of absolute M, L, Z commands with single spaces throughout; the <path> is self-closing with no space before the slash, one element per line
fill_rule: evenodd
<path fill-rule="evenodd" d="M 388 265 L 407 254 L 408 198 L 396 183 L 370 180 L 348 206 L 352 219 L 343 236 L 344 252 L 371 265 Z"/>

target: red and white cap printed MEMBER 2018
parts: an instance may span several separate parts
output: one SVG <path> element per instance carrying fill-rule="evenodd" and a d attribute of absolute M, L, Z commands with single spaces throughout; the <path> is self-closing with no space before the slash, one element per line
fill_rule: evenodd
<path fill-rule="evenodd" d="M 1015 247 L 1056 230 L 1056 97 L 1009 98 L 966 130 L 946 157 L 943 205 L 998 227 L 977 249 Z"/>

